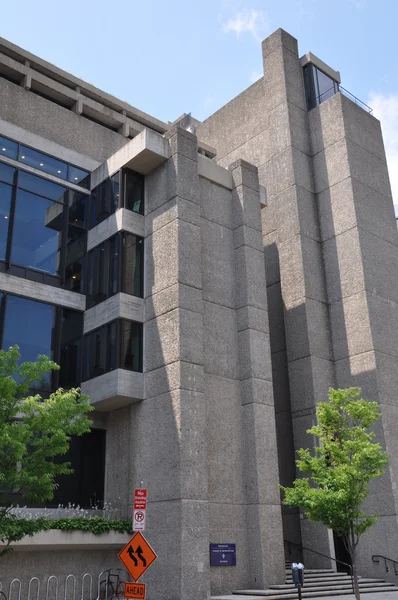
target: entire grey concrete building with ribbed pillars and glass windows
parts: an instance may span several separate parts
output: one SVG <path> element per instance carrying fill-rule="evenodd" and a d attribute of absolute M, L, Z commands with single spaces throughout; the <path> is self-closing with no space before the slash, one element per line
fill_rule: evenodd
<path fill-rule="evenodd" d="M 54 506 L 127 507 L 148 488 L 155 600 L 281 582 L 287 541 L 339 556 L 278 487 L 330 386 L 380 404 L 391 463 L 360 571 L 398 559 L 398 232 L 380 124 L 288 33 L 262 53 L 242 94 L 171 124 L 0 40 L 0 341 L 51 355 L 45 391 L 82 382 L 96 409 Z M 3 587 L 118 566 L 116 538 L 49 536 L 2 559 Z M 236 566 L 210 567 L 211 543 L 236 544 Z"/>

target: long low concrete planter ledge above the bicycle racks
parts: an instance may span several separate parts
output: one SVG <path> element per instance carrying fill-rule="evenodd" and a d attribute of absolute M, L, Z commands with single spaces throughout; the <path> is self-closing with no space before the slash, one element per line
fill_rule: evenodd
<path fill-rule="evenodd" d="M 12 544 L 15 551 L 40 551 L 46 550 L 95 550 L 122 548 L 131 537 L 128 533 L 110 531 L 95 535 L 91 531 L 61 531 L 49 529 L 32 536 L 26 536 Z M 4 544 L 0 543 L 0 550 Z"/>

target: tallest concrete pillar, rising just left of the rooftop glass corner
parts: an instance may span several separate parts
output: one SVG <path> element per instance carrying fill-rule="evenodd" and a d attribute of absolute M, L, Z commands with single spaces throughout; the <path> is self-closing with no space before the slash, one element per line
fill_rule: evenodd
<path fill-rule="evenodd" d="M 312 444 L 306 430 L 316 402 L 334 384 L 329 314 L 297 40 L 279 29 L 262 48 L 269 146 L 259 178 L 267 188 L 268 235 L 279 256 L 294 445 L 300 448 Z M 326 528 L 302 520 L 301 536 L 307 548 L 332 554 Z M 331 566 L 314 554 L 304 560 Z"/>

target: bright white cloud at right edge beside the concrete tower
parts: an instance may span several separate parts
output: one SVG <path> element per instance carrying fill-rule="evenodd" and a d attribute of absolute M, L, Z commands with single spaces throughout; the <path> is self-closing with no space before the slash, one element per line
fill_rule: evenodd
<path fill-rule="evenodd" d="M 388 172 L 390 174 L 392 197 L 398 212 L 398 94 L 369 95 L 369 105 L 373 115 L 381 122 L 384 146 L 386 149 Z"/>

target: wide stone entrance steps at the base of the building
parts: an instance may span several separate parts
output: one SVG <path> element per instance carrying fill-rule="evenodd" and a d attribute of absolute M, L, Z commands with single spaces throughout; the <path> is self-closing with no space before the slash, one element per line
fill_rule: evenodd
<path fill-rule="evenodd" d="M 398 587 L 383 579 L 359 577 L 361 594 L 378 592 L 398 592 Z M 302 597 L 322 598 L 323 596 L 344 596 L 353 594 L 351 577 L 332 569 L 305 569 Z M 290 568 L 286 568 L 285 583 L 271 585 L 266 590 L 236 590 L 232 595 L 212 596 L 211 600 L 297 600 L 297 589 L 293 585 Z"/>

